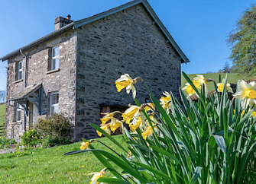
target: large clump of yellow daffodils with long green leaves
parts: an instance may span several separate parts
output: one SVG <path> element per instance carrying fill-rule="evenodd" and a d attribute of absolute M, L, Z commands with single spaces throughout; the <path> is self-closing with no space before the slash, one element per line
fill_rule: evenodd
<path fill-rule="evenodd" d="M 105 168 L 93 173 L 92 183 L 255 182 L 253 174 L 255 175 L 256 112 L 249 109 L 248 103 L 245 103 L 246 100 L 250 100 L 248 97 L 240 100 L 235 96 L 237 97 L 235 100 L 228 100 L 226 79 L 222 93 L 216 90 L 214 95 L 207 96 L 204 84 L 207 82 L 215 84 L 215 81 L 200 76 L 195 80 L 202 81 L 198 83 L 202 86 L 196 86 L 183 73 L 189 83 L 183 90 L 186 90 L 189 95 L 196 94 L 199 97 L 196 102 L 193 102 L 190 96 L 186 98 L 183 90 L 180 89 L 183 104 L 175 100 L 171 92 L 164 93 L 166 97 L 161 97 L 159 103 L 145 84 L 154 103 L 152 106 L 138 102 L 133 87 L 133 84 L 137 83 L 136 78 L 134 80 L 128 78 L 130 80 L 128 82 L 125 76 L 127 75 L 122 75 L 122 78 L 116 81 L 117 88 L 122 90 L 120 88 L 125 88 L 128 84 L 127 88 L 133 90 L 136 103 L 122 114 L 125 122 L 136 128 L 134 132 L 128 132 L 124 128 L 123 133 L 128 139 L 129 151 L 107 133 L 109 127 L 111 129 L 117 127 L 120 121 L 105 123 L 102 127 L 91 125 L 122 148 L 126 155 L 118 154 L 112 151 L 112 148 L 109 148 L 109 151 L 95 149 L 92 145 L 94 140 L 86 141 L 85 139 L 80 151 L 65 154 L 85 151 L 92 151 L 95 154 Z M 241 90 L 245 90 L 252 84 L 242 83 L 241 85 L 243 88 Z M 217 89 L 216 84 L 215 89 Z M 255 97 L 255 89 L 256 87 L 248 89 L 250 93 L 246 95 Z M 111 113 L 108 118 L 114 119 L 110 115 Z M 122 173 L 118 173 L 112 163 L 120 167 L 123 170 Z M 102 177 L 106 170 L 109 170 L 115 178 Z M 251 178 L 248 178 L 248 173 L 251 174 Z"/>

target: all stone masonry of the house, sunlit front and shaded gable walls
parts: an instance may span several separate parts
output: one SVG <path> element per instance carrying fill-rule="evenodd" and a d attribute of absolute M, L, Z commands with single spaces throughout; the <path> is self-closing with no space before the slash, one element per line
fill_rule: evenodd
<path fill-rule="evenodd" d="M 47 116 L 49 94 L 59 91 L 59 112 L 66 113 L 74 125 L 73 141 L 96 138 L 96 130 L 89 124 L 100 124 L 102 106 L 124 109 L 134 103 L 131 94 L 125 90 L 118 93 L 115 88 L 115 80 L 126 73 L 131 78 L 143 78 L 157 98 L 170 90 L 179 98 L 180 56 L 152 21 L 144 6 L 138 4 L 83 27 L 66 30 L 25 50 L 27 84 L 42 84 L 38 117 Z M 50 50 L 57 45 L 60 45 L 60 70 L 49 72 Z M 24 91 L 24 72 L 23 81 L 15 81 L 21 59 L 21 54 L 8 59 L 7 100 Z M 138 100 L 145 103 L 149 97 L 146 87 L 142 81 L 135 87 Z M 14 107 L 7 104 L 7 137 L 10 138 L 13 126 L 12 134 L 20 141 L 24 122 L 15 125 L 14 113 Z M 28 119 L 29 113 L 27 130 Z"/>

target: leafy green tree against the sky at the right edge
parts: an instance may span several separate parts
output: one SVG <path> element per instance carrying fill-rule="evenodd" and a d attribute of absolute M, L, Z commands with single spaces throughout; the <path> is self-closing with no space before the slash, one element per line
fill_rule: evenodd
<path fill-rule="evenodd" d="M 232 54 L 229 57 L 235 66 L 235 72 L 244 78 L 253 78 L 256 72 L 256 5 L 246 9 L 235 29 L 228 35 Z"/>

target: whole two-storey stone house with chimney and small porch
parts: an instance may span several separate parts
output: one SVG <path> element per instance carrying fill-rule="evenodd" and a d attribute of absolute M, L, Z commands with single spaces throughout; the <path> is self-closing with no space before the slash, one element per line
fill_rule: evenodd
<path fill-rule="evenodd" d="M 116 91 L 120 75 L 144 78 L 156 97 L 165 90 L 178 97 L 180 65 L 190 62 L 146 0 L 80 21 L 57 17 L 55 31 L 1 60 L 8 61 L 6 135 L 18 141 L 38 117 L 53 113 L 69 117 L 74 141 L 95 138 L 89 123 L 134 102 Z M 135 87 L 147 101 L 144 84 Z"/>

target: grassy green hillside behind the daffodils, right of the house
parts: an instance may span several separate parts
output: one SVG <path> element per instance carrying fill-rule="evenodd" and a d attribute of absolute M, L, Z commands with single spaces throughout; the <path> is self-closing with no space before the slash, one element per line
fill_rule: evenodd
<path fill-rule="evenodd" d="M 212 73 L 212 74 L 199 74 L 199 75 L 203 75 L 204 78 L 212 78 L 216 84 L 219 83 L 219 75 L 221 75 L 221 80 L 223 78 L 225 78 L 225 75 L 224 73 Z M 193 80 L 193 78 L 196 77 L 195 74 L 191 74 L 191 75 L 187 75 L 191 80 Z M 242 78 L 240 78 L 242 79 Z M 238 81 L 238 76 L 236 73 L 229 73 L 228 74 L 228 83 L 236 83 Z M 186 79 L 183 77 L 183 75 L 181 75 L 181 88 L 185 87 L 187 81 Z M 214 87 L 214 84 L 212 82 L 209 82 L 207 84 L 207 87 L 208 87 L 208 90 L 215 90 L 215 87 Z"/>

